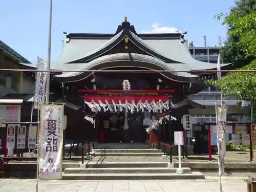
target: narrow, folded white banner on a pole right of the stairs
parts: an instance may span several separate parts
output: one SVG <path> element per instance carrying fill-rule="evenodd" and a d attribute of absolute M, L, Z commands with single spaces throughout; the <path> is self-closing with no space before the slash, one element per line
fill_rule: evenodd
<path fill-rule="evenodd" d="M 216 105 L 216 113 L 219 174 L 222 175 L 224 173 L 224 158 L 226 153 L 225 130 L 227 121 L 227 109 Z"/>

